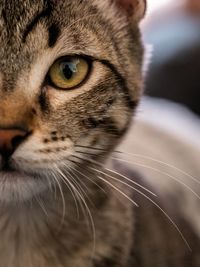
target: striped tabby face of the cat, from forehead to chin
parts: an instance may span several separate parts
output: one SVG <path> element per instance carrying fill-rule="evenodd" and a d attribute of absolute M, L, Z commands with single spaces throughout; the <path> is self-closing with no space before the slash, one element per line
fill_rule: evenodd
<path fill-rule="evenodd" d="M 142 0 L 1 1 L 1 201 L 44 192 L 81 164 L 81 147 L 110 151 L 124 135 L 141 94 L 143 12 Z"/>

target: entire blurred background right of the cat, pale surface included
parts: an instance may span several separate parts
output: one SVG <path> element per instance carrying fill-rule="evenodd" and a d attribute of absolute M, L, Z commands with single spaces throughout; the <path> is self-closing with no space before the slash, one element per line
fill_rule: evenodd
<path fill-rule="evenodd" d="M 200 236 L 200 0 L 147 3 L 145 96 L 121 150 Z"/>

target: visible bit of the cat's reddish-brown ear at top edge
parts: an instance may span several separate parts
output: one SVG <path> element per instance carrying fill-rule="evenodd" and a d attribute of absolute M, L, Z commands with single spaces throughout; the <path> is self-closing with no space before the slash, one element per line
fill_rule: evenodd
<path fill-rule="evenodd" d="M 146 11 L 146 0 L 114 0 L 117 5 L 122 8 L 130 18 L 140 21 Z"/>

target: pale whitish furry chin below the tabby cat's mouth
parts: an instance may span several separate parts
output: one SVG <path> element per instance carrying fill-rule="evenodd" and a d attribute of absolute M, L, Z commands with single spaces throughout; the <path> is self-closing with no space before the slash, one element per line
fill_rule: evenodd
<path fill-rule="evenodd" d="M 0 204 L 17 204 L 42 194 L 47 185 L 42 179 L 19 171 L 0 171 Z"/>

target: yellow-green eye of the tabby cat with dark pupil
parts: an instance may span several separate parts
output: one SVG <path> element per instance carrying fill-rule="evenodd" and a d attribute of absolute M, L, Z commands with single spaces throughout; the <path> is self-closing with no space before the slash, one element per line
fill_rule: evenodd
<path fill-rule="evenodd" d="M 63 57 L 51 66 L 48 77 L 58 89 L 73 89 L 82 84 L 90 71 L 89 62 L 78 56 Z"/>

